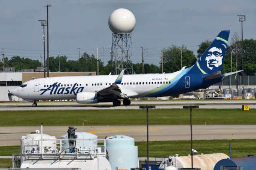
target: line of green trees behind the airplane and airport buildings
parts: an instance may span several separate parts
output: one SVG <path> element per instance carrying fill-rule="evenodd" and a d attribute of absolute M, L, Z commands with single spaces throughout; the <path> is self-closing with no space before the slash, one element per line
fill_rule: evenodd
<path fill-rule="evenodd" d="M 190 67 L 196 63 L 200 56 L 206 51 L 207 47 L 212 43 L 210 40 L 202 41 L 200 44 L 197 55 L 193 51 L 187 49 L 186 46 L 172 45 L 168 48 L 162 49 L 163 55 L 163 70 L 166 73 L 175 72 L 181 69 L 181 51 L 182 51 L 182 66 Z M 222 67 L 222 73 L 236 71 L 236 57 L 237 57 L 237 68 L 242 70 L 242 57 L 241 57 L 241 39 L 238 33 L 234 33 L 231 37 L 230 45 L 227 46 L 226 55 L 224 58 L 224 64 Z M 244 39 L 244 75 L 256 75 L 256 40 L 255 39 Z M 232 55 L 232 59 L 231 59 Z M 49 57 L 49 66 L 51 72 L 59 71 L 60 61 L 60 72 L 92 72 L 97 71 L 97 58 L 94 55 L 84 53 L 80 59 L 68 60 L 67 56 Z M 108 61 L 108 64 L 104 66 L 103 62 L 99 59 L 99 74 L 107 75 L 112 70 L 113 61 Z M 231 63 L 232 62 L 232 63 Z M 36 69 L 41 66 L 42 63 L 38 60 L 32 60 L 28 58 L 21 58 L 20 56 L 14 56 L 11 59 L 7 57 L 4 59 L 5 67 L 15 67 L 15 70 L 21 69 Z M 161 73 L 162 72 L 162 61 L 160 66 L 155 64 L 144 64 L 144 73 Z M 231 66 L 232 65 L 232 66 Z M 141 74 L 142 63 L 133 64 L 133 73 Z"/>

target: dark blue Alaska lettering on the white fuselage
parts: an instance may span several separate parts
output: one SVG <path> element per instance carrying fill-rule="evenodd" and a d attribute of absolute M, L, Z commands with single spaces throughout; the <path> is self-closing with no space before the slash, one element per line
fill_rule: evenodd
<path fill-rule="evenodd" d="M 72 87 L 60 87 L 61 83 L 54 83 L 52 86 L 46 88 L 46 89 L 40 89 L 40 91 L 43 91 L 40 95 L 44 94 L 48 90 L 50 91 L 50 95 L 52 94 L 78 94 L 79 92 L 82 92 L 84 90 L 84 87 L 78 87 L 76 86 L 77 83 L 74 84 Z"/>

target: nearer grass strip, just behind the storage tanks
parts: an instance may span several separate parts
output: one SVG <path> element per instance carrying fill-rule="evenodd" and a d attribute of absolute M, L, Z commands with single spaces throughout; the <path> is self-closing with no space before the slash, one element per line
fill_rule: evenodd
<path fill-rule="evenodd" d="M 256 155 L 256 139 L 234 139 L 234 140 L 195 140 L 193 148 L 198 154 L 224 153 L 229 156 L 229 145 L 231 143 L 232 157 L 243 157 L 248 154 Z M 138 146 L 138 156 L 147 156 L 147 143 L 135 142 Z M 12 155 L 20 153 L 20 146 L 0 147 L 1 155 Z M 179 154 L 179 156 L 187 156 L 190 154 L 190 141 L 150 141 L 149 142 L 150 157 L 168 157 L 170 155 Z"/>

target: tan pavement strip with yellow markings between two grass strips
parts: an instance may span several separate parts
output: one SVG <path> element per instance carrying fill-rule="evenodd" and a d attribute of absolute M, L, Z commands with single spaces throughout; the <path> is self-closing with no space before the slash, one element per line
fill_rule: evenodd
<path fill-rule="evenodd" d="M 76 131 L 94 133 L 98 139 L 107 135 L 127 135 L 135 141 L 146 141 L 146 126 L 76 126 Z M 40 127 L 0 127 L 0 146 L 20 145 L 20 138 Z M 46 126 L 43 133 L 56 136 L 67 133 L 68 126 Z M 256 125 L 194 125 L 193 140 L 256 139 Z M 189 125 L 164 125 L 149 127 L 150 141 L 190 140 Z"/>

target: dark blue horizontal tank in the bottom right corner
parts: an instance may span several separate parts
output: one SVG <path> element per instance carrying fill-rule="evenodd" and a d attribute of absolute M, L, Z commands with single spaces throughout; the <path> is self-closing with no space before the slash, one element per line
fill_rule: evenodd
<path fill-rule="evenodd" d="M 242 166 L 244 170 L 255 170 L 256 157 L 254 155 L 248 155 L 248 157 L 243 158 L 222 159 L 216 163 L 216 165 L 214 166 L 214 170 L 220 170 L 220 166 Z M 234 169 L 234 167 L 232 168 L 232 170 Z"/>

